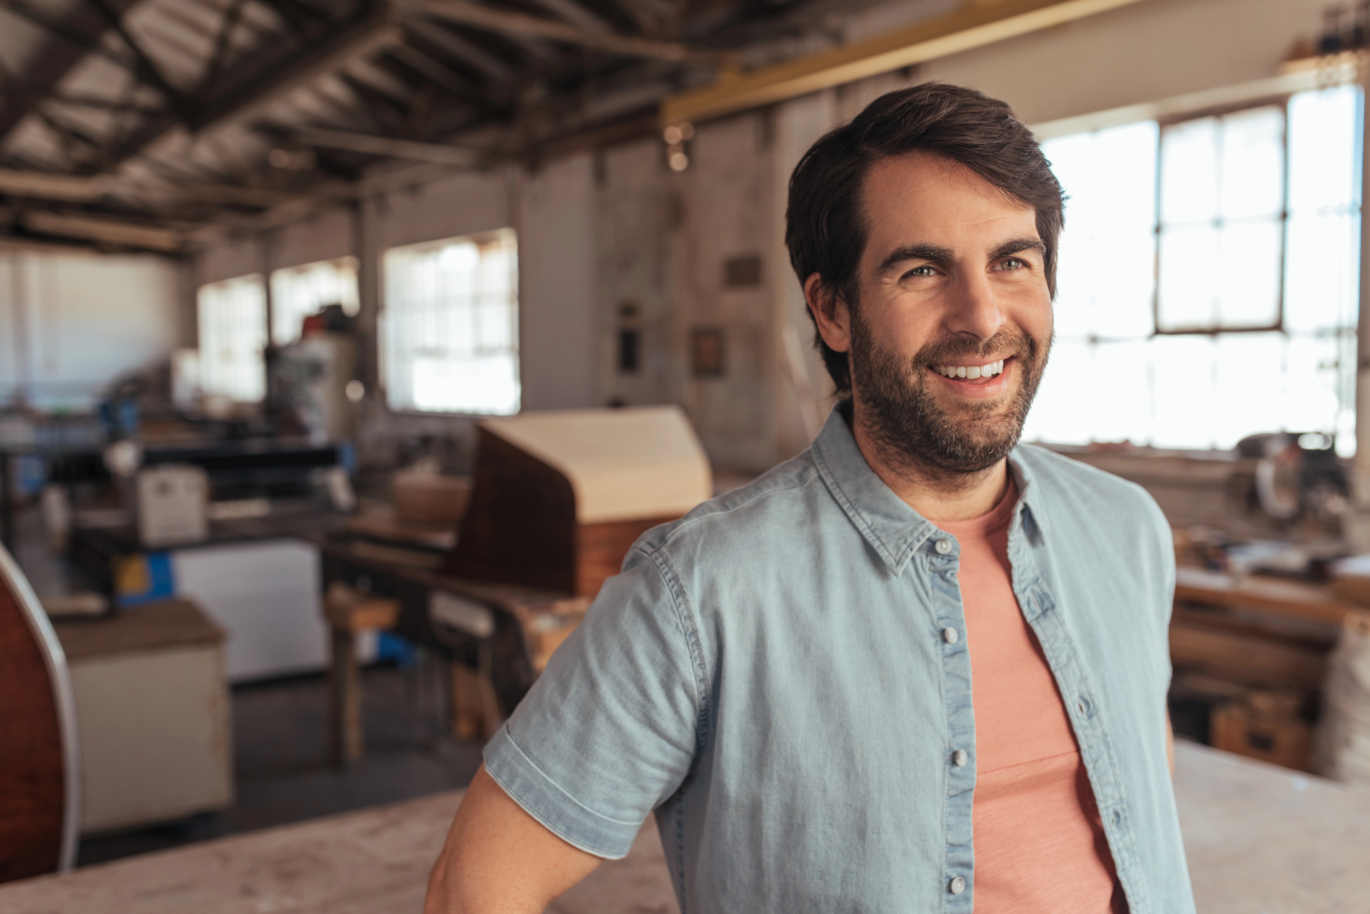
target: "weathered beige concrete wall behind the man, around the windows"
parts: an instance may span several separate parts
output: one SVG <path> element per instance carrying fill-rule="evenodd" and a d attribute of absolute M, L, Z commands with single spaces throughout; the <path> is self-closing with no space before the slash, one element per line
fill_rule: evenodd
<path fill-rule="evenodd" d="M 856 40 L 945 5 L 874 7 L 848 18 L 844 31 Z M 699 125 L 690 167 L 680 174 L 667 168 L 660 144 L 644 140 L 537 174 L 445 178 L 212 248 L 197 261 L 197 280 L 352 253 L 362 263 L 363 327 L 374 328 L 381 250 L 514 226 L 525 408 L 678 402 L 718 465 L 762 469 L 806 446 L 830 404 L 782 238 L 786 181 L 823 131 L 881 93 L 923 79 L 980 88 L 1041 123 L 1267 78 L 1295 37 L 1317 34 L 1323 5 L 1141 0 L 911 74 Z M 725 285 L 723 264 L 738 256 L 759 259 L 759 285 Z M 690 371 L 690 334 L 710 327 L 725 337 L 721 378 Z M 616 365 L 623 328 L 641 338 L 634 372 Z M 367 415 L 375 442 L 469 434 L 466 421 L 392 416 L 374 400 Z"/>

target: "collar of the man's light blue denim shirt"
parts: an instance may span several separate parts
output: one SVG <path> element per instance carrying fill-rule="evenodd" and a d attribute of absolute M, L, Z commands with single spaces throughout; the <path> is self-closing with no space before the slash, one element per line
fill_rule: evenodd
<path fill-rule="evenodd" d="M 899 576 L 904 573 L 904 566 L 918 547 L 940 531 L 870 468 L 843 416 L 845 409 L 849 409 L 847 404 L 840 402 L 827 415 L 827 423 L 814 439 L 814 462 L 848 520 Z M 1032 471 L 1012 454 L 1008 457 L 1008 471 L 1018 484 L 1015 523 L 1022 523 L 1029 536 L 1040 538 L 1038 513 L 1032 510 L 1030 501 L 1036 497 Z"/>

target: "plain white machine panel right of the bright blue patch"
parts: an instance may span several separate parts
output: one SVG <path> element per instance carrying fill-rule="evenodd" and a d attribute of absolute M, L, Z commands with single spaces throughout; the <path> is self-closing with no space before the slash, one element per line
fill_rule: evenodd
<path fill-rule="evenodd" d="M 195 599 L 229 634 L 229 679 L 323 669 L 319 553 L 297 539 L 171 553 L 178 597 Z"/>

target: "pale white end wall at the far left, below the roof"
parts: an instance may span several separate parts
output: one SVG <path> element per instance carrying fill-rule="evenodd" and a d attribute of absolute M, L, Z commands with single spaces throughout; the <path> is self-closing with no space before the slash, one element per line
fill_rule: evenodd
<path fill-rule="evenodd" d="M 167 257 L 0 250 L 0 401 L 89 409 L 111 380 L 167 357 L 181 298 Z"/>

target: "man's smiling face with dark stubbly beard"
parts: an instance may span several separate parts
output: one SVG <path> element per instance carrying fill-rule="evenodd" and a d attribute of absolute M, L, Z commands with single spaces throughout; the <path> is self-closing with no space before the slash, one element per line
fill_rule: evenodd
<path fill-rule="evenodd" d="M 864 212 L 847 312 L 860 421 L 896 458 L 992 467 L 1018 442 L 1051 349 L 1034 212 L 926 155 L 873 167 Z"/>

